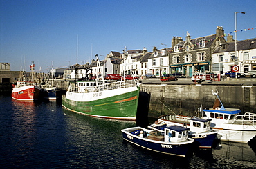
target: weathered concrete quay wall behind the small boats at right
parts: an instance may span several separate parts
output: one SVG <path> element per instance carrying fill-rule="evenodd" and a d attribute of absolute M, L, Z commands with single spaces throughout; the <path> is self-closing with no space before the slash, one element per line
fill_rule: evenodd
<path fill-rule="evenodd" d="M 168 113 L 198 116 L 198 108 L 212 108 L 218 90 L 226 108 L 240 108 L 242 112 L 256 112 L 256 79 L 226 79 L 203 81 L 197 84 L 190 78 L 161 82 L 158 78 L 143 79 L 140 91 L 147 94 L 149 117 Z M 140 105 L 139 105 L 140 106 Z M 200 115 L 201 116 L 201 115 Z"/>

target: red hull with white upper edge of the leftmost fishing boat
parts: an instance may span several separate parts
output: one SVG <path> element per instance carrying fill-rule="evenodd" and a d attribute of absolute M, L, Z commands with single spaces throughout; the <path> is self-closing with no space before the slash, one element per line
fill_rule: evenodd
<path fill-rule="evenodd" d="M 37 86 L 21 86 L 12 88 L 12 98 L 21 101 L 34 101 L 39 99 L 40 89 Z"/>

